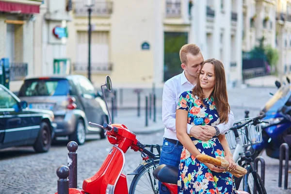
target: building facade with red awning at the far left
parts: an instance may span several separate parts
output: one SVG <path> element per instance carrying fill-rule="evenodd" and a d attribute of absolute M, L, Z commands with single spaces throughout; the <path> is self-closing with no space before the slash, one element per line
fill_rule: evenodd
<path fill-rule="evenodd" d="M 0 1 L 0 58 L 8 59 L 13 83 L 33 74 L 33 21 L 41 3 L 42 0 Z"/>

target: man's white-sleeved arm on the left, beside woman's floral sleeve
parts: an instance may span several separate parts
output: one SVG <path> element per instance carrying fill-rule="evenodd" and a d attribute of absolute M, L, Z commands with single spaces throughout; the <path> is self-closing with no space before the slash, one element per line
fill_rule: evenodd
<path fill-rule="evenodd" d="M 176 94 L 165 82 L 162 91 L 162 122 L 167 129 L 176 133 Z"/>

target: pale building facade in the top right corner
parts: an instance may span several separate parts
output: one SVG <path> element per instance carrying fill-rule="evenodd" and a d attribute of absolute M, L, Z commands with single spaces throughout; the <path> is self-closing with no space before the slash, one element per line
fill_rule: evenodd
<path fill-rule="evenodd" d="M 291 0 L 243 0 L 243 29 L 243 51 L 264 37 L 279 52 L 278 77 L 291 73 Z"/>

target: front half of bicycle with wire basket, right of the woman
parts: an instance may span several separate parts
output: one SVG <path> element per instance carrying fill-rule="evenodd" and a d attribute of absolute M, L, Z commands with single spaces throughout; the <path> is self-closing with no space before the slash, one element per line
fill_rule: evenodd
<path fill-rule="evenodd" d="M 234 126 L 226 133 L 226 139 L 231 149 L 234 149 L 233 159 L 247 170 L 247 174 L 241 178 L 235 178 L 236 188 L 240 187 L 241 181 L 243 191 L 250 194 L 267 194 L 264 183 L 260 178 L 252 153 L 249 149 L 262 141 L 261 118 L 266 115 L 245 118 L 234 123 Z M 235 142 L 233 139 L 235 138 Z"/>

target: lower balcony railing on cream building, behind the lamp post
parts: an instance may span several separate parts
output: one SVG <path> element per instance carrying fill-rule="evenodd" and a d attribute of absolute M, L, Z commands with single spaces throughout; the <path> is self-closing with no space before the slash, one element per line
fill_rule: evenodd
<path fill-rule="evenodd" d="M 91 72 L 108 72 L 113 70 L 112 63 L 91 63 Z M 78 72 L 87 72 L 88 71 L 88 63 L 75 63 L 74 71 Z"/>

